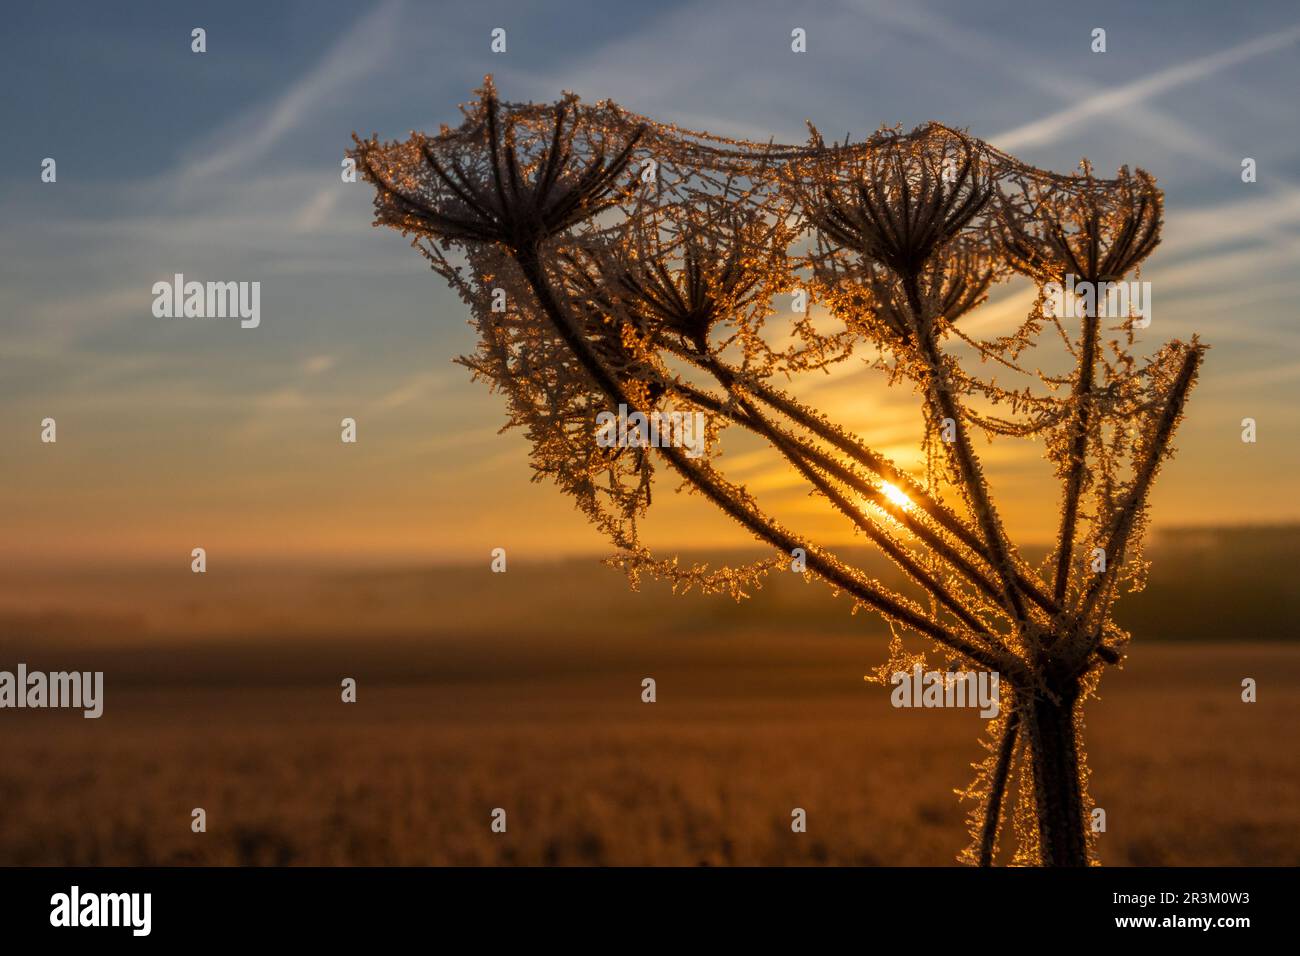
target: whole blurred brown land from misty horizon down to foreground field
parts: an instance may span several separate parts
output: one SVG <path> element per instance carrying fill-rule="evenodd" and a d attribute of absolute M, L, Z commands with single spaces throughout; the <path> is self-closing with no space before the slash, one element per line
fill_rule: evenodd
<path fill-rule="evenodd" d="M 890 708 L 880 624 L 798 581 L 737 606 L 593 562 L 4 580 L 0 667 L 107 689 L 99 721 L 0 713 L 0 865 L 948 865 L 967 839 L 983 722 Z M 1300 646 L 1138 610 L 1167 630 L 1135 627 L 1087 710 L 1102 861 L 1300 864 Z"/>

